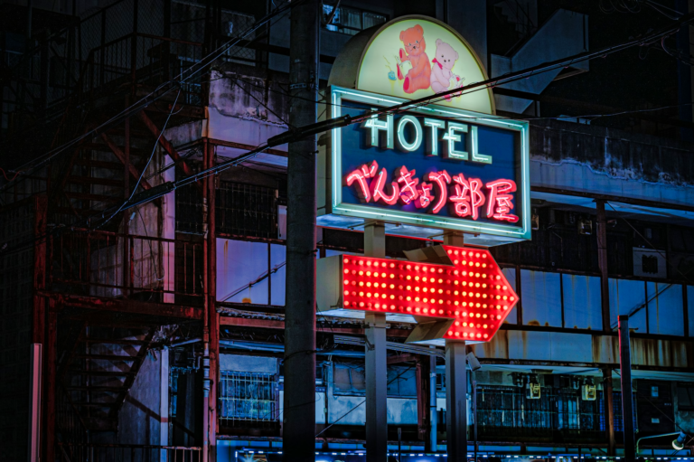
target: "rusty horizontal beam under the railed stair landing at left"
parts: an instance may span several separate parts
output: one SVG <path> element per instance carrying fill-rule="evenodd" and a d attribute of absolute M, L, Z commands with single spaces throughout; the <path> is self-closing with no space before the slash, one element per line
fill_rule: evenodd
<path fill-rule="evenodd" d="M 202 309 L 195 306 L 141 302 L 138 300 L 122 300 L 105 297 L 85 297 L 50 291 L 41 291 L 39 295 L 55 300 L 58 309 L 70 306 L 89 310 L 115 311 L 133 315 L 176 317 L 192 320 L 199 320 L 202 316 Z"/>

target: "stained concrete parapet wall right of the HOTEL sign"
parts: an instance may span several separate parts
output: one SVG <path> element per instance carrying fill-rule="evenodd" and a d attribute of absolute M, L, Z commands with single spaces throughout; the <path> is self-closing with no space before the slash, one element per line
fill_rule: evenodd
<path fill-rule="evenodd" d="M 694 197 L 694 145 L 545 120 L 530 128 L 530 181 L 677 205 Z"/>

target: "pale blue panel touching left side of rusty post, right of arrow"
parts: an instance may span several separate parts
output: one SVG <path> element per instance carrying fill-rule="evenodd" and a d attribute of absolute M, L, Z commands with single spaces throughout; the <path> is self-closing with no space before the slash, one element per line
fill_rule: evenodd
<path fill-rule="evenodd" d="M 563 274 L 564 326 L 601 330 L 600 278 Z"/>

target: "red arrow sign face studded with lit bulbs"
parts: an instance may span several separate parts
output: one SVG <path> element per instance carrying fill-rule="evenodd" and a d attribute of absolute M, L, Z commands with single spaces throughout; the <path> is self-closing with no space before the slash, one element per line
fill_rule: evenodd
<path fill-rule="evenodd" d="M 342 255 L 342 306 L 453 319 L 444 338 L 488 342 L 518 303 L 489 250 L 442 246 L 451 265 Z"/>

